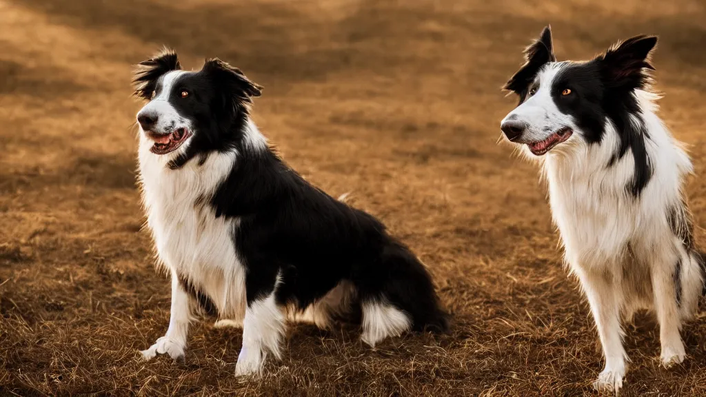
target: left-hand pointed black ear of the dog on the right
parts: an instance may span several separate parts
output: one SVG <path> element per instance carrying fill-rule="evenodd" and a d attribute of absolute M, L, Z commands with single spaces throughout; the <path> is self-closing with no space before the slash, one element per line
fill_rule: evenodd
<path fill-rule="evenodd" d="M 546 25 L 542 34 L 539 35 L 539 39 L 525 49 L 525 64 L 510 78 L 508 83 L 505 83 L 503 90 L 513 91 L 522 99 L 539 69 L 544 64 L 554 61 L 556 61 L 556 57 L 554 56 L 554 45 L 551 44 L 551 26 Z"/>

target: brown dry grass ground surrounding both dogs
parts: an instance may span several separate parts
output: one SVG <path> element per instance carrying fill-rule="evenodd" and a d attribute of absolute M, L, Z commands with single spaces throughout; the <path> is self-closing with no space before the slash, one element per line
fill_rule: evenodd
<path fill-rule="evenodd" d="M 704 174 L 705 20 L 701 0 L 0 0 L 0 395 L 591 394 L 597 336 L 537 170 L 496 144 L 515 105 L 498 88 L 548 22 L 561 59 L 659 34 L 662 116 Z M 210 319 L 185 362 L 140 361 L 167 327 L 169 283 L 140 231 L 129 81 L 163 44 L 264 85 L 265 134 L 421 256 L 453 333 L 371 350 L 355 328 L 296 326 L 284 360 L 246 381 L 240 331 Z M 700 225 L 704 180 L 687 187 Z M 671 370 L 654 321 L 636 324 L 623 395 L 706 395 L 704 315 Z"/>

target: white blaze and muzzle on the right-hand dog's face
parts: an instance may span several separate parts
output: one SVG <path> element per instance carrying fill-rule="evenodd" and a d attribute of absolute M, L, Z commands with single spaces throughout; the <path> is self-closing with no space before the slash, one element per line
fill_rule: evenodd
<path fill-rule="evenodd" d="M 544 141 L 563 128 L 575 129 L 573 117 L 562 113 L 551 95 L 556 76 L 563 66 L 565 66 L 563 63 L 544 66 L 539 71 L 535 83 L 530 87 L 537 87 L 534 95 L 530 96 L 530 93 L 527 93 L 525 102 L 515 107 L 501 122 L 501 125 L 505 125 L 507 122 L 517 122 L 524 126 L 522 135 L 514 139 L 514 142 Z"/>

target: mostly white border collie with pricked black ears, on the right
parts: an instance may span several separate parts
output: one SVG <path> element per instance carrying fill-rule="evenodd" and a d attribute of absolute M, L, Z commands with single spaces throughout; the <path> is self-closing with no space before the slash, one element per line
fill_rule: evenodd
<path fill-rule="evenodd" d="M 547 26 L 505 85 L 520 104 L 501 129 L 549 182 L 565 260 L 606 360 L 594 387 L 616 393 L 628 360 L 621 315 L 657 314 L 662 364 L 670 367 L 684 360 L 679 332 L 702 290 L 702 256 L 681 191 L 691 162 L 649 91 L 656 44 L 638 36 L 591 61 L 558 62 Z"/>

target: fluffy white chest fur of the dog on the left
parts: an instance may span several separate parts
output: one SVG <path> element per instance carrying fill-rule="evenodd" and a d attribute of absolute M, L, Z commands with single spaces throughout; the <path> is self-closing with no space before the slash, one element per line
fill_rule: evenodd
<path fill-rule="evenodd" d="M 206 202 L 232 169 L 234 155 L 211 155 L 169 170 L 140 148 L 140 177 L 148 226 L 170 271 L 188 278 L 221 314 L 244 315 L 244 268 L 234 245 L 237 219 L 216 218 Z"/>

